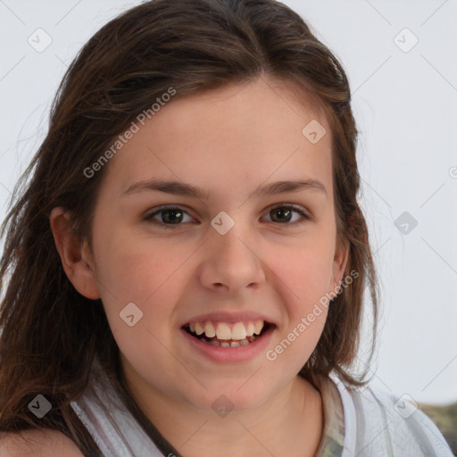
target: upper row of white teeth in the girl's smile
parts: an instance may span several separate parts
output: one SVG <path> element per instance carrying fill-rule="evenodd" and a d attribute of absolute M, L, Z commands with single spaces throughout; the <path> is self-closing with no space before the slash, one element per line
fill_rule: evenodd
<path fill-rule="evenodd" d="M 245 339 L 245 337 L 252 337 L 253 334 L 259 335 L 265 322 L 263 320 L 255 320 L 253 322 L 212 322 L 207 320 L 205 322 L 191 322 L 189 328 L 191 332 L 197 335 L 204 335 L 218 339 Z"/>

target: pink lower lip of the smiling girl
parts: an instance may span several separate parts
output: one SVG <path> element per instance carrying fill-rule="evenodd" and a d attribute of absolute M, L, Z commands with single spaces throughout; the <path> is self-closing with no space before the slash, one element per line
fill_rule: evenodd
<path fill-rule="evenodd" d="M 265 331 L 262 337 L 258 337 L 255 341 L 253 341 L 253 343 L 249 343 L 249 345 L 238 347 L 220 347 L 204 343 L 200 339 L 189 335 L 183 328 L 179 328 L 184 337 L 196 351 L 202 353 L 208 359 L 218 361 L 220 363 L 249 361 L 259 353 L 264 353 L 270 343 L 271 335 L 273 334 L 274 329 L 275 327 L 271 326 L 267 331 Z"/>

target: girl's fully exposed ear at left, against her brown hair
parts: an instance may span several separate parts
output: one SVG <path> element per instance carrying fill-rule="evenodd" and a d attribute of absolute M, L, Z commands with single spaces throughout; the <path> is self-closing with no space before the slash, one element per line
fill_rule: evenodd
<path fill-rule="evenodd" d="M 54 208 L 49 220 L 55 247 L 71 284 L 87 298 L 100 298 L 90 249 L 87 241 L 82 240 L 71 228 L 69 213 L 62 207 Z"/>

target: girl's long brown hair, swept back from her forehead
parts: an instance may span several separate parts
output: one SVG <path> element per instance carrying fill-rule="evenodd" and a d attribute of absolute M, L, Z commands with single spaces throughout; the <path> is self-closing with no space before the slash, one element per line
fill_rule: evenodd
<path fill-rule="evenodd" d="M 274 0 L 154 0 L 107 23 L 81 49 L 55 96 L 48 134 L 14 189 L 20 195 L 2 227 L 1 286 L 7 276 L 9 281 L 0 310 L 0 431 L 54 428 L 89 453 L 94 444 L 69 403 L 84 391 L 96 355 L 119 382 L 119 349 L 103 305 L 79 295 L 66 277 L 50 228 L 52 209 L 71 212 L 75 232 L 90 242 L 109 164 L 90 179 L 84 170 L 138 113 L 170 87 L 176 99 L 263 76 L 295 83 L 327 114 L 337 237 L 350 246 L 346 272 L 359 274 L 330 304 L 320 341 L 300 374 L 313 382 L 334 370 L 347 386 L 368 382 L 367 370 L 355 376 L 351 367 L 367 282 L 373 355 L 378 285 L 357 201 L 358 132 L 341 63 L 297 13 Z M 27 407 L 38 394 L 53 405 L 41 420 Z"/>

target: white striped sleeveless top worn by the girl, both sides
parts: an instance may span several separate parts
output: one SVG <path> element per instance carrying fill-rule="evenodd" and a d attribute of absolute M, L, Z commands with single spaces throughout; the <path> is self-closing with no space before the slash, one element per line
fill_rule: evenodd
<path fill-rule="evenodd" d="M 92 370 L 101 370 L 96 361 Z M 87 389 L 71 407 L 104 457 L 179 456 L 154 426 L 155 434 L 145 432 L 100 374 L 95 379 L 91 373 Z M 316 457 L 453 457 L 436 425 L 411 403 L 373 387 L 348 389 L 333 376 L 317 387 L 324 431 Z M 162 451 L 154 440 L 162 443 Z"/>

